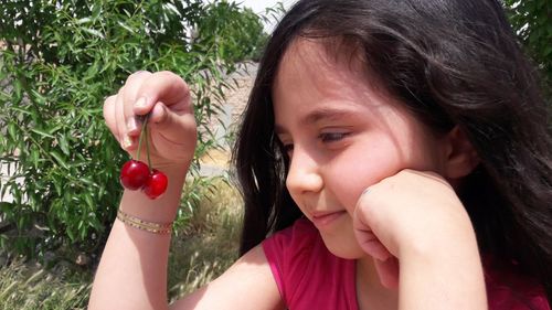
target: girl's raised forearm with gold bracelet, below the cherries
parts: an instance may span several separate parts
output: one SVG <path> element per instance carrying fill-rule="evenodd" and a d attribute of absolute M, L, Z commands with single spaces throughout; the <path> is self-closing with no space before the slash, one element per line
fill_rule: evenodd
<path fill-rule="evenodd" d="M 173 222 L 184 174 L 167 171 L 169 186 L 157 200 L 126 190 L 125 213 L 148 222 Z M 88 309 L 168 309 L 167 265 L 170 234 L 155 234 L 116 220 L 94 280 Z"/>

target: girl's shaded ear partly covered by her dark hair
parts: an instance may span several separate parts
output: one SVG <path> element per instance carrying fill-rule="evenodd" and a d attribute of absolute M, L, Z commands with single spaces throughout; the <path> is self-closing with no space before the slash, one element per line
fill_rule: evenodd
<path fill-rule="evenodd" d="M 455 126 L 446 137 L 445 175 L 449 180 L 468 175 L 479 164 L 479 157 L 464 131 Z"/>

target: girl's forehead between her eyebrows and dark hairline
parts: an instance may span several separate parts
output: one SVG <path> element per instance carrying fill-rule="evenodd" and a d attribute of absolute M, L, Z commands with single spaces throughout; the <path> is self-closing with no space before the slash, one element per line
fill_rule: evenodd
<path fill-rule="evenodd" d="M 354 66 L 355 65 L 355 66 Z M 349 56 L 335 55 L 319 41 L 298 40 L 286 51 L 272 87 L 276 117 L 299 116 L 314 110 L 362 110 L 393 105 L 395 100 L 376 87 Z"/>

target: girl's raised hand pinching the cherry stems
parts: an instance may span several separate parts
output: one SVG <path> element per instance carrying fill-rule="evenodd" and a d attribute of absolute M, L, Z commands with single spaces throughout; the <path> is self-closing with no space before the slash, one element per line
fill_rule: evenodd
<path fill-rule="evenodd" d="M 197 145 L 197 125 L 185 82 L 170 72 L 137 72 L 105 100 L 107 127 L 132 158 L 137 156 L 142 120 L 148 114 L 145 138 L 149 139 L 151 165 L 185 172 Z M 145 145 L 141 157 L 146 156 Z"/>

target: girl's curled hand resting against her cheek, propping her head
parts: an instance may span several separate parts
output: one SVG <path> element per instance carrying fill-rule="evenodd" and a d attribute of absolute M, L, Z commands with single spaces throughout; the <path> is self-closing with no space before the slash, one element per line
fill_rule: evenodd
<path fill-rule="evenodd" d="M 368 188 L 358 201 L 353 227 L 388 288 L 401 285 L 400 274 L 401 280 L 410 276 L 405 268 L 413 266 L 411 260 L 446 265 L 466 255 L 474 264 L 478 260 L 468 214 L 454 189 L 435 173 L 403 170 Z"/>

